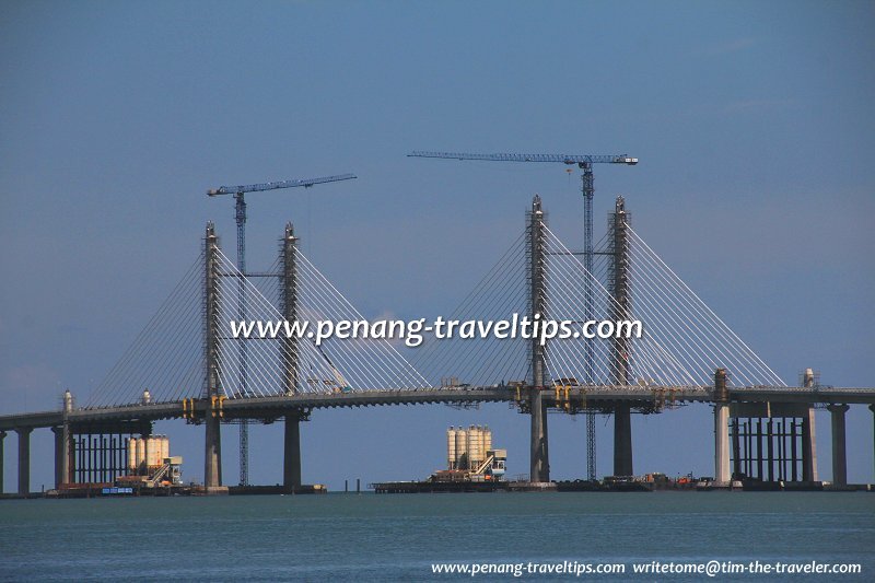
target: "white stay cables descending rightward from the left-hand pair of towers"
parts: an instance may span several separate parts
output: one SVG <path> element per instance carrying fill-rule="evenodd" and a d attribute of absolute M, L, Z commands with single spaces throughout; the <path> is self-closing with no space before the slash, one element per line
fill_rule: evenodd
<path fill-rule="evenodd" d="M 320 320 L 365 319 L 299 249 L 294 253 L 298 320 L 306 322 L 308 331 L 315 331 Z M 262 278 L 270 281 L 264 291 L 250 281 L 253 278 L 244 278 L 221 252 L 219 269 L 222 273 L 219 279 L 219 374 L 226 397 L 401 390 L 429 386 L 395 347 L 383 339 L 331 337 L 317 346 L 305 334 L 293 346 L 287 342 L 285 323 L 278 307 L 281 298 L 278 263 L 273 272 Z M 232 322 L 238 320 L 235 302 L 241 293 L 244 294 L 246 320 L 255 324 L 248 339 L 242 339 L 240 334 L 235 338 L 232 329 Z M 241 365 L 241 342 L 247 345 L 245 368 Z M 290 362 L 295 363 L 294 387 L 287 386 L 285 381 Z M 244 375 L 240 374 L 242 370 L 245 370 Z"/>

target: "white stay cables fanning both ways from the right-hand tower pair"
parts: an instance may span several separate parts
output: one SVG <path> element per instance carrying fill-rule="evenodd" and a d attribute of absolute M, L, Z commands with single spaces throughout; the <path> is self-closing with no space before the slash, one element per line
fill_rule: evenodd
<path fill-rule="evenodd" d="M 596 248 L 593 273 L 546 225 L 541 267 L 545 314 L 541 319 L 571 323 L 578 337 L 547 341 L 548 382 L 610 386 L 711 386 L 714 370 L 726 369 L 735 385 L 785 386 L 781 378 L 711 311 L 708 305 L 626 224 L 628 304 L 610 291 L 612 250 L 606 235 Z M 521 234 L 447 319 L 500 320 L 532 315 L 529 242 Z M 592 310 L 586 310 L 586 283 Z M 590 316 L 587 317 L 587 312 Z M 623 343 L 615 338 L 587 339 L 587 319 L 641 320 L 642 335 Z M 444 385 L 490 386 L 530 376 L 530 340 L 520 338 L 429 339 L 415 360 L 419 370 Z M 587 351 L 588 348 L 588 351 Z M 622 362 L 620 363 L 620 359 Z M 625 375 L 619 375 L 622 368 Z"/>

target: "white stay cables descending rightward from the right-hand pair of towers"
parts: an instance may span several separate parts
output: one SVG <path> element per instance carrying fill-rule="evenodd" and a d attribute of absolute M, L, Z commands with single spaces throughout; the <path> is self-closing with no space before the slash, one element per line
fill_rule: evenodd
<path fill-rule="evenodd" d="M 585 320 L 585 281 L 593 290 L 596 320 L 640 320 L 642 335 L 621 345 L 614 338 L 550 340 L 547 368 L 552 378 L 579 384 L 617 384 L 625 366 L 627 384 L 642 387 L 710 386 L 715 369 L 726 369 L 734 384 L 784 386 L 781 378 L 684 283 L 684 281 L 626 224 L 628 237 L 628 303 L 620 306 L 609 290 L 612 249 L 607 247 L 587 273 L 576 254 L 548 228 L 546 232 L 547 313 L 550 319 Z M 585 346 L 592 347 L 587 366 Z"/>

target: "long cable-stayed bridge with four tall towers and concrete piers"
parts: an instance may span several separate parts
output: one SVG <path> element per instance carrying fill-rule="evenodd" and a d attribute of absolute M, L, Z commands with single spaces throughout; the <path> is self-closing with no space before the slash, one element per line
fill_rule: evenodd
<path fill-rule="evenodd" d="M 293 488 L 302 482 L 300 423 L 313 409 L 489 401 L 530 416 L 535 482 L 550 479 L 548 410 L 611 415 L 612 474 L 631 476 L 631 413 L 695 401 L 714 406 L 718 482 L 733 475 L 817 481 L 812 408 L 825 405 L 832 413 L 833 482 L 843 483 L 848 404 L 875 404 L 873 388 L 821 387 L 814 376 L 788 386 L 632 229 L 621 197 L 592 269 L 550 230 L 535 197 L 525 229 L 447 317 L 572 324 L 573 334 L 544 341 L 425 334 L 423 346 L 406 349 L 399 340 L 337 335 L 318 342 L 307 335 L 242 338 L 242 304 L 247 320 L 280 328 L 366 319 L 300 250 L 291 225 L 279 247 L 268 270 L 242 273 L 209 224 L 200 256 L 84 405 L 67 394 L 60 411 L 0 417 L 0 453 L 5 431 L 19 435 L 19 491 L 30 490 L 36 428 L 55 431 L 56 481 L 65 485 L 83 464 L 115 477 L 119 468 L 107 459 L 126 455 L 122 435 L 149 435 L 156 420 L 202 424 L 209 490 L 222 485 L 223 424 L 282 420 L 283 481 Z M 590 314 L 595 322 L 640 320 L 640 337 L 588 338 Z M 83 435 L 104 440 L 102 457 L 80 451 Z"/>

